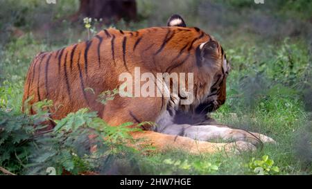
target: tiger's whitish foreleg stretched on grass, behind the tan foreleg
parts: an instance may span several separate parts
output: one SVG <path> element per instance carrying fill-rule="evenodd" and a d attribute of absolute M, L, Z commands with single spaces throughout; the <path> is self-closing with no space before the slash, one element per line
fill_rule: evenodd
<path fill-rule="evenodd" d="M 220 127 L 218 125 L 168 125 L 162 130 L 164 134 L 178 134 L 196 139 L 198 141 L 215 141 L 218 139 L 225 141 L 246 141 L 253 145 L 259 144 L 259 139 L 263 143 L 275 143 L 275 141 L 263 134 L 247 132 L 242 129 L 232 129 Z"/>

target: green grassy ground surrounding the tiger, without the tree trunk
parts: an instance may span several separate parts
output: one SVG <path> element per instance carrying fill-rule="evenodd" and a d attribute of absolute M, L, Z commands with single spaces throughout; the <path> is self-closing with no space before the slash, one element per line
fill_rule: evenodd
<path fill-rule="evenodd" d="M 83 28 L 83 21 L 77 24 L 69 24 L 66 19 L 60 21 L 75 12 L 78 1 L 58 1 L 53 6 L 36 0 L 19 3 L 8 0 L 1 1 L 0 6 L 6 7 L 0 12 L 3 30 L 0 34 L 0 118 L 3 118 L 0 126 L 24 127 L 31 120 L 23 123 L 19 120 L 21 96 L 34 55 L 85 40 L 87 30 Z M 271 163 L 251 163 L 252 158 L 261 160 L 268 155 L 279 172 L 270 168 L 265 174 L 312 174 L 311 1 L 265 1 L 264 5 L 256 5 L 248 0 L 141 0 L 138 8 L 139 21 L 130 24 L 120 21 L 113 26 L 123 30 L 164 26 L 170 15 L 179 13 L 189 26 L 198 26 L 214 35 L 225 47 L 232 71 L 227 81 L 227 102 L 212 116 L 220 123 L 266 134 L 278 144 L 240 155 L 220 152 L 193 156 L 172 150 L 146 156 L 135 152 L 112 153 L 105 163 L 97 165 L 98 171 L 103 174 L 257 174 L 254 168 L 265 168 L 264 164 Z M 59 21 L 59 24 L 42 31 L 40 26 L 47 20 Z M 12 35 L 12 26 L 24 35 Z M 16 133 L 18 130 L 11 132 L 18 136 Z M 1 138 L 5 137 L 0 127 L 0 166 L 12 172 L 42 174 L 40 170 L 30 169 L 30 163 L 44 166 L 42 163 L 48 158 L 55 160 L 56 155 L 40 160 L 31 158 L 35 150 L 27 146 L 16 151 L 14 147 L 20 147 L 18 141 L 18 145 L 11 144 L 9 139 Z M 73 159 L 75 168 L 88 164 Z M 69 164 L 61 163 L 61 166 Z"/>

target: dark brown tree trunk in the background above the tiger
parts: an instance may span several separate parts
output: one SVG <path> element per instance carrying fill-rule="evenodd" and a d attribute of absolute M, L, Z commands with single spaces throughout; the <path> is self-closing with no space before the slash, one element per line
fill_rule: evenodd
<path fill-rule="evenodd" d="M 78 15 L 103 19 L 104 23 L 121 18 L 125 21 L 135 20 L 137 3 L 135 0 L 80 0 Z"/>

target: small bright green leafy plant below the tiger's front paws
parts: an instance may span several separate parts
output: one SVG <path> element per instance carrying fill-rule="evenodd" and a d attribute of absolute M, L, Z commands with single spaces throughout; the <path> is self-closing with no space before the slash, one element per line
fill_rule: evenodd
<path fill-rule="evenodd" d="M 248 163 L 248 168 L 258 175 L 277 174 L 279 172 L 279 168 L 273 165 L 274 161 L 269 159 L 268 155 L 264 155 L 261 160 L 252 158 L 250 163 Z"/>

